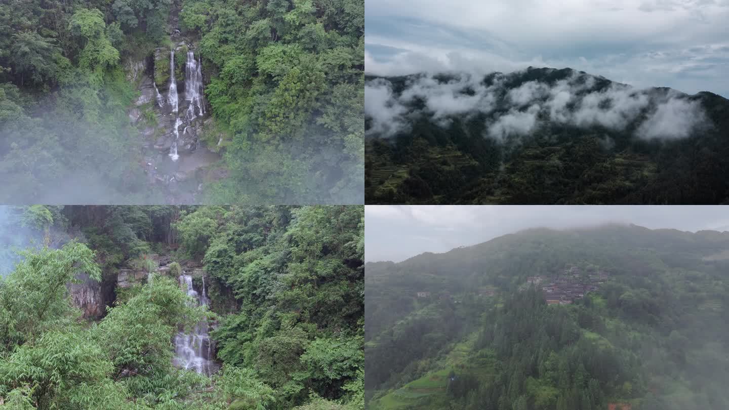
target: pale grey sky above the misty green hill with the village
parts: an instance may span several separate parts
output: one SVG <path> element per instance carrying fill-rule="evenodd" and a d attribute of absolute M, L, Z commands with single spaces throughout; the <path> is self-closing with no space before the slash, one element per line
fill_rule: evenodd
<path fill-rule="evenodd" d="M 727 206 L 367 205 L 364 259 L 399 262 L 526 228 L 634 223 L 681 231 L 729 231 Z"/>

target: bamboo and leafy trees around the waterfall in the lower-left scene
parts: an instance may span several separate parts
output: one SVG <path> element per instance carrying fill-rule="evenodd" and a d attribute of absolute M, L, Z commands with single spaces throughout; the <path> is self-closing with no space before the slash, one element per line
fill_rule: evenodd
<path fill-rule="evenodd" d="M 0 211 L 0 408 L 363 409 L 363 206 Z"/>

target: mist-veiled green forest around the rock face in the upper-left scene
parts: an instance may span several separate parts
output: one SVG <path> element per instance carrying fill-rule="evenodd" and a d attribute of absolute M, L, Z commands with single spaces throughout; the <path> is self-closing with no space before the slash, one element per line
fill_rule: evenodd
<path fill-rule="evenodd" d="M 201 57 L 200 142 L 222 154 L 188 182 L 195 203 L 362 203 L 362 0 L 3 1 L 0 201 L 181 202 L 144 166 L 167 116 L 135 103 L 155 55 L 177 50 L 184 77 L 181 47 Z"/>

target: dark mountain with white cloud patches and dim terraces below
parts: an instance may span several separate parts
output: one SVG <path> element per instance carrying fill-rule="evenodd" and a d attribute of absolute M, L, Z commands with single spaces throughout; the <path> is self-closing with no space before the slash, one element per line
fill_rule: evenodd
<path fill-rule="evenodd" d="M 367 204 L 721 204 L 729 101 L 572 69 L 367 77 Z"/>

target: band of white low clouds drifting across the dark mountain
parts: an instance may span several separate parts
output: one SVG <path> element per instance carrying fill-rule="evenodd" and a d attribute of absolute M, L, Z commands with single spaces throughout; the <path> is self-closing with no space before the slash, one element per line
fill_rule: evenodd
<path fill-rule="evenodd" d="M 490 82 L 474 74 L 454 74 L 447 81 L 432 74 L 410 77 L 402 93 L 394 93 L 383 78 L 365 85 L 368 136 L 389 137 L 407 132 L 410 117 L 429 115 L 444 125 L 453 116 L 486 114 L 487 136 L 530 134 L 545 122 L 580 128 L 601 126 L 624 131 L 636 124 L 643 139 L 689 136 L 706 122 L 698 101 L 674 90 L 638 89 L 620 83 L 596 88 L 601 77 L 573 71 L 556 82 L 523 82 L 509 88 L 513 75 L 496 74 Z M 417 103 L 417 104 L 416 104 Z M 415 108 L 422 104 L 422 109 Z"/>

